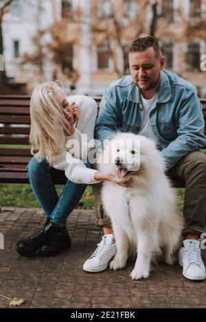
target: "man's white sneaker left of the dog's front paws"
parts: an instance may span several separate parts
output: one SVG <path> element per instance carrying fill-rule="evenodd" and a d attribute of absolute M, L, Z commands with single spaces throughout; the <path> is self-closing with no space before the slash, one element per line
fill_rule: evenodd
<path fill-rule="evenodd" d="M 96 273 L 104 271 L 108 263 L 116 253 L 116 245 L 113 242 L 113 234 L 109 233 L 102 237 L 102 241 L 98 244 L 98 248 L 89 257 L 83 265 L 83 270 L 86 272 Z"/>

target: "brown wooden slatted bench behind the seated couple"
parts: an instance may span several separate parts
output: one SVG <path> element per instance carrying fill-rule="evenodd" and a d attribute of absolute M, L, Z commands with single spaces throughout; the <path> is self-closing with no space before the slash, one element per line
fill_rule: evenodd
<path fill-rule="evenodd" d="M 99 105 L 101 97 L 94 98 Z M 201 103 L 206 124 L 206 100 Z M 30 96 L 0 95 L 0 183 L 29 183 L 27 163 L 32 157 L 29 134 Z M 20 147 L 16 148 L 16 145 Z M 54 175 L 56 184 L 65 183 L 62 172 L 55 170 Z M 183 181 L 172 180 L 176 187 L 184 187 Z"/>

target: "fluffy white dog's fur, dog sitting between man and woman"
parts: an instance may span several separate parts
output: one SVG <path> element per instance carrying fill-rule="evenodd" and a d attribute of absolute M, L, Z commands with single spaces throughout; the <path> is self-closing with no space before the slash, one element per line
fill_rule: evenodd
<path fill-rule="evenodd" d="M 139 170 L 133 166 L 138 164 L 138 149 L 131 150 L 131 145 L 125 144 L 130 140 L 140 141 Z M 116 165 L 114 157 L 118 157 L 120 163 L 125 159 L 124 163 Z M 157 255 L 163 255 L 166 263 L 173 264 L 174 253 L 180 246 L 183 218 L 179 215 L 174 189 L 165 176 L 163 157 L 155 142 L 141 135 L 118 133 L 99 152 L 98 163 L 104 174 L 131 177 L 132 180 L 129 187 L 108 181 L 103 183 L 102 204 L 111 218 L 117 246 L 110 268 L 124 268 L 129 253 L 137 254 L 135 268 L 130 274 L 133 279 L 147 278 L 150 262 L 155 262 Z"/>

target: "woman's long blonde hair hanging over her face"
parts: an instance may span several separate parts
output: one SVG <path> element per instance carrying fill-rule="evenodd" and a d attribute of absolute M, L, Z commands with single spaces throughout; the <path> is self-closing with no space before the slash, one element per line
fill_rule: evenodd
<path fill-rule="evenodd" d="M 38 85 L 30 102 L 31 152 L 39 162 L 46 156 L 50 165 L 52 157 L 65 148 L 70 129 L 69 122 L 54 97 L 58 91 L 64 93 L 59 81 Z"/>

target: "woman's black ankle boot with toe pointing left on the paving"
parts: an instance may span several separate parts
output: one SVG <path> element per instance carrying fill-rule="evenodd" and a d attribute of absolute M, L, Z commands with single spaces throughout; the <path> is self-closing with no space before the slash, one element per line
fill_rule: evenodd
<path fill-rule="evenodd" d="M 41 248 L 44 245 L 50 244 L 54 240 L 62 240 L 62 235 L 66 235 L 65 231 L 67 231 L 66 227 L 60 227 L 47 220 L 43 228 L 38 229 L 38 231 L 30 237 L 19 240 L 19 242 L 16 243 L 16 251 L 22 256 L 37 255 L 41 252 Z M 68 233 L 67 238 L 70 240 Z"/>

